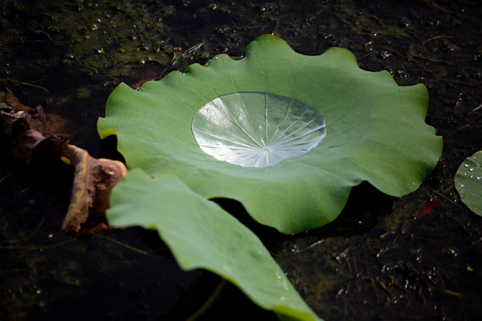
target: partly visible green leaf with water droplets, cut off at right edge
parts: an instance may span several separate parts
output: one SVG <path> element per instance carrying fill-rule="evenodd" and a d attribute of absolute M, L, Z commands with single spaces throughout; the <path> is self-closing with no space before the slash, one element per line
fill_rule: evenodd
<path fill-rule="evenodd" d="M 463 161 L 455 174 L 455 188 L 470 210 L 482 216 L 482 151 Z"/>

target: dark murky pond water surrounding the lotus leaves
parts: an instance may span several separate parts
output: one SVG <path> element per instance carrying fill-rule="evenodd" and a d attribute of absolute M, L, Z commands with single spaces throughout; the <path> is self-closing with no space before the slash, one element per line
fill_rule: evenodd
<path fill-rule="evenodd" d="M 222 206 L 261 235 L 328 321 L 478 320 L 482 219 L 460 202 L 453 175 L 482 149 L 481 13 L 476 2 L 443 0 L 4 0 L 0 89 L 41 105 L 51 133 L 97 157 L 113 155 L 96 119 L 121 81 L 137 87 L 218 53 L 241 56 L 264 33 L 304 54 L 342 46 L 365 70 L 424 83 L 427 122 L 445 145 L 418 191 L 395 199 L 362 184 L 335 222 L 294 236 L 255 226 L 235 202 Z M 182 320 L 219 289 L 217 276 L 181 271 L 150 232 L 64 235 L 71 172 L 18 170 L 1 156 L 0 319 Z M 200 319 L 276 319 L 235 287 L 221 291 Z"/>

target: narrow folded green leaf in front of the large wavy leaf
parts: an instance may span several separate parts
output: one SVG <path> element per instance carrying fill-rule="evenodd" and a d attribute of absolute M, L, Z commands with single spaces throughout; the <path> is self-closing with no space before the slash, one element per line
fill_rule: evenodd
<path fill-rule="evenodd" d="M 320 320 L 259 238 L 178 177 L 152 178 L 140 169 L 130 170 L 114 189 L 112 204 L 110 224 L 157 229 L 181 268 L 205 268 L 223 276 L 280 317 Z"/>

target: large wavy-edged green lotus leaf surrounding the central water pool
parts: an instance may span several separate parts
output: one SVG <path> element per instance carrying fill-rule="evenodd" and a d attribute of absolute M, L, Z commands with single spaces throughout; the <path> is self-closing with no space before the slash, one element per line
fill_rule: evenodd
<path fill-rule="evenodd" d="M 327 136 L 276 166 L 218 161 L 196 143 L 191 123 L 206 103 L 237 92 L 306 103 L 320 111 Z M 115 131 L 130 169 L 174 173 L 204 198 L 236 199 L 257 221 L 291 234 L 332 221 L 363 180 L 395 196 L 417 189 L 442 150 L 424 121 L 427 104 L 425 86 L 397 86 L 385 70 L 361 70 L 344 49 L 305 56 L 264 35 L 243 59 L 220 54 L 208 67 L 191 65 L 138 91 L 121 84 L 98 128 L 104 136 Z"/>

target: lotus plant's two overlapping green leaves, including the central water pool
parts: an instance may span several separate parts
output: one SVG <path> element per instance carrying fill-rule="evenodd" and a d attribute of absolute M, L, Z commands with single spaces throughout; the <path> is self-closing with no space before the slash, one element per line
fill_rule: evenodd
<path fill-rule="evenodd" d="M 362 181 L 411 193 L 442 150 L 427 105 L 425 86 L 361 70 L 345 49 L 305 56 L 272 35 L 242 59 L 121 84 L 98 122 L 130 169 L 107 218 L 156 228 L 181 268 L 211 270 L 280 317 L 316 319 L 257 236 L 210 199 L 294 234 L 337 218 Z"/>

